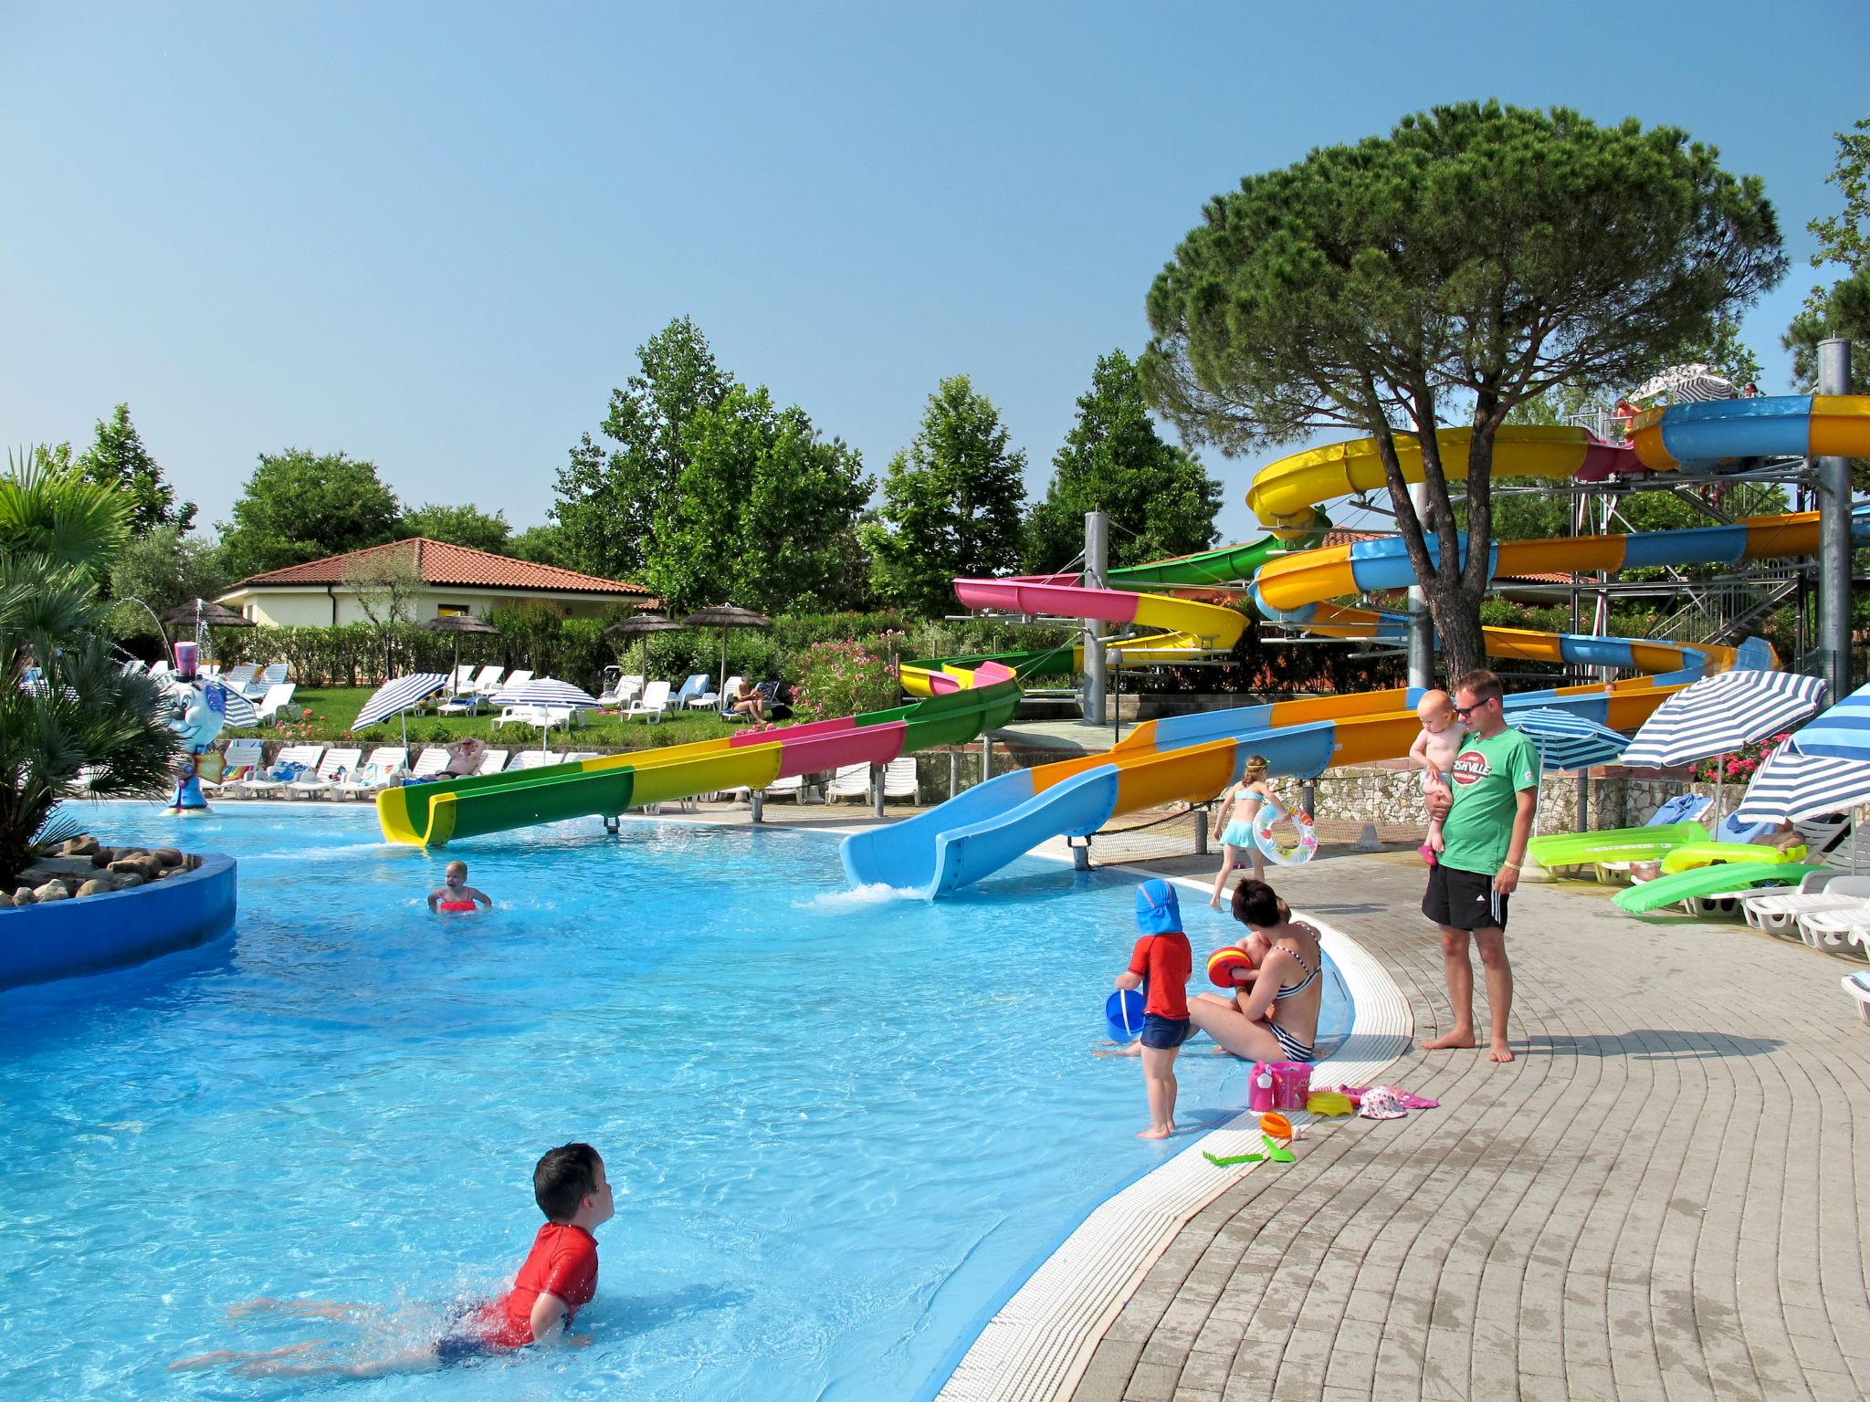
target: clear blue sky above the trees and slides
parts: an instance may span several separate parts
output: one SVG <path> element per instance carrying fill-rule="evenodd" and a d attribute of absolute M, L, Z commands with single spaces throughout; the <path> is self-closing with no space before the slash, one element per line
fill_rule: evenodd
<path fill-rule="evenodd" d="M 965 372 L 1038 492 L 1206 196 L 1464 97 L 1763 176 L 1795 264 L 1745 329 L 1780 391 L 1870 108 L 1863 24 L 1799 2 L 0 0 L 0 437 L 127 400 L 204 522 L 305 447 L 537 523 L 681 314 L 877 475 Z M 1259 460 L 1208 460 L 1244 538 Z"/>

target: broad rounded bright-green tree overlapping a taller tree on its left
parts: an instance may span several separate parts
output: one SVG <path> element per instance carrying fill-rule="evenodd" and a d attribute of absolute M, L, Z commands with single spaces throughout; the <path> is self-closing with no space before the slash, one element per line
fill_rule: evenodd
<path fill-rule="evenodd" d="M 873 482 L 862 458 L 825 441 L 797 404 L 733 385 L 688 424 L 688 465 L 647 553 L 668 608 L 733 602 L 776 613 L 845 596 L 845 542 Z"/>

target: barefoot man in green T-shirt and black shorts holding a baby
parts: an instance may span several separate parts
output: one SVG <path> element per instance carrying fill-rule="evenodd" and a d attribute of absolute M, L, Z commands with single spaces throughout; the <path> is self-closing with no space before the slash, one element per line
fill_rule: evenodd
<path fill-rule="evenodd" d="M 1503 690 L 1490 671 L 1470 671 L 1447 688 L 1455 714 L 1470 727 L 1455 755 L 1453 793 L 1431 793 L 1429 811 L 1442 817 L 1440 858 L 1429 869 L 1421 912 L 1442 929 L 1442 966 L 1455 1026 L 1425 1041 L 1429 1051 L 1474 1047 L 1474 965 L 1468 942 L 1481 948 L 1487 1004 L 1492 1009 L 1489 1056 L 1511 1062 L 1507 1013 L 1513 1011 L 1513 965 L 1507 963 L 1507 897 L 1532 837 L 1539 796 L 1539 750 L 1505 722 Z"/>

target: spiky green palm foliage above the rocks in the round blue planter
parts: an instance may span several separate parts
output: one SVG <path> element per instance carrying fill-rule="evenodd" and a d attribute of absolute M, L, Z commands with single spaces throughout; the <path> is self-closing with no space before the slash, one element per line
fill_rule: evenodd
<path fill-rule="evenodd" d="M 131 501 L 43 451 L 0 480 L 0 884 L 11 886 L 80 770 L 99 798 L 163 791 L 176 751 L 166 695 L 125 675 L 105 639 L 97 581 L 131 529 Z M 26 684 L 28 667 L 39 679 Z"/>

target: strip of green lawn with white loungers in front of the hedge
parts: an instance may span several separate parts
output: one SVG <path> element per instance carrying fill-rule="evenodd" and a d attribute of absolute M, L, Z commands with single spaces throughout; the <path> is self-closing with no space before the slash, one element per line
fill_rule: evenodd
<path fill-rule="evenodd" d="M 260 729 L 245 727 L 226 727 L 223 737 L 237 735 L 256 735 L 262 740 L 279 742 L 297 742 L 297 740 L 324 740 L 325 744 L 335 744 L 338 740 L 348 740 L 363 748 L 372 744 L 396 744 L 402 738 L 402 727 L 396 718 L 391 716 L 387 722 L 378 725 L 368 725 L 355 735 L 350 735 L 348 727 L 363 710 L 363 703 L 370 699 L 376 692 L 372 686 L 301 686 L 294 692 L 294 705 L 303 708 L 303 718 L 297 722 L 284 722 L 280 725 L 266 725 Z M 479 716 L 438 716 L 434 712 L 411 710 L 410 712 L 410 748 L 417 744 L 445 744 L 447 740 L 464 740 L 468 737 L 486 740 L 488 744 L 497 744 L 509 750 L 522 750 L 539 744 L 539 729 L 535 725 L 501 725 L 494 729 L 494 718 L 499 714 L 497 707 L 482 707 Z M 572 723 L 567 731 L 559 725 L 552 727 L 552 748 L 554 750 L 649 750 L 653 746 L 666 744 L 688 744 L 692 740 L 712 740 L 716 735 L 727 735 L 737 729 L 729 725 L 712 710 L 690 710 L 686 714 L 669 712 L 666 720 L 623 720 L 621 716 L 602 716 L 595 710 L 587 710 Z"/>

